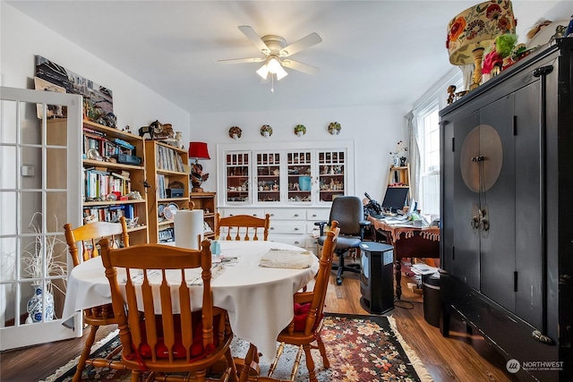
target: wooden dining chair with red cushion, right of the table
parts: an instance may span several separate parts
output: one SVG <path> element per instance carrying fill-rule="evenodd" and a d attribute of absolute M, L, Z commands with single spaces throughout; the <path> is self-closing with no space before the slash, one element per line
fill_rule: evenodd
<path fill-rule="evenodd" d="M 329 360 L 326 355 L 326 348 L 321 339 L 321 328 L 324 301 L 326 299 L 326 292 L 329 286 L 330 267 L 332 265 L 332 258 L 334 250 L 337 245 L 338 234 L 340 228 L 338 221 L 333 220 L 330 225 L 330 231 L 327 233 L 326 240 L 322 247 L 321 263 L 316 281 L 312 291 L 304 291 L 295 293 L 295 317 L 290 325 L 286 327 L 278 335 L 277 355 L 275 360 L 269 368 L 269 377 L 277 367 L 278 359 L 283 351 L 285 344 L 293 344 L 299 346 L 299 351 L 295 357 L 295 364 L 293 365 L 291 380 L 294 380 L 298 365 L 304 351 L 306 358 L 306 367 L 309 372 L 309 380 L 317 382 L 316 372 L 314 371 L 314 361 L 312 361 L 311 349 L 319 349 L 324 363 L 324 368 L 330 367 Z M 316 344 L 314 344 L 316 342 Z"/>

